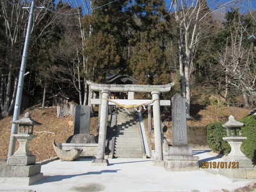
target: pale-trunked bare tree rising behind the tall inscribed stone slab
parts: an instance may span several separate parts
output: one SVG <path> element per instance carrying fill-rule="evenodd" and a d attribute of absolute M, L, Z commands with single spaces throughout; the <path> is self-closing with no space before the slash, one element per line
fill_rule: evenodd
<path fill-rule="evenodd" d="M 190 77 L 193 72 L 193 58 L 196 47 L 203 38 L 202 31 L 207 26 L 205 20 L 211 16 L 211 13 L 234 2 L 236 1 L 232 0 L 220 4 L 218 0 L 171 0 L 170 13 L 173 13 L 177 22 L 180 84 L 182 96 L 186 98 L 187 118 L 190 118 Z"/>

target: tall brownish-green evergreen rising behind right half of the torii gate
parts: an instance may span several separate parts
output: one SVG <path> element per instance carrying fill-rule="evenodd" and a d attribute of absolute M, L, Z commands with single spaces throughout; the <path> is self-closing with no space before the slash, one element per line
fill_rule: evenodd
<path fill-rule="evenodd" d="M 170 68 L 166 61 L 165 46 L 169 19 L 164 1 L 136 1 L 132 10 L 137 21 L 131 70 L 141 84 L 170 83 Z"/>

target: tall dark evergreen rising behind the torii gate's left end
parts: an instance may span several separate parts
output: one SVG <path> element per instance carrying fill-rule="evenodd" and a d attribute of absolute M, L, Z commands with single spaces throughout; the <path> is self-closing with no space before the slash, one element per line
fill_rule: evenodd
<path fill-rule="evenodd" d="M 86 66 L 88 67 L 87 72 L 92 72 L 92 69 L 95 69 L 96 65 L 95 62 L 90 63 L 92 61 L 92 56 L 89 54 L 93 49 L 92 46 L 97 45 L 93 43 L 93 39 L 95 39 L 93 36 L 99 36 L 101 38 L 104 34 L 106 35 L 106 38 L 101 39 L 104 39 L 104 41 L 111 41 L 111 45 L 108 49 L 113 49 L 111 54 L 115 52 L 115 57 L 118 58 L 118 60 L 115 61 L 115 64 L 113 64 L 115 65 L 115 68 L 118 68 L 116 72 L 127 73 L 127 60 L 129 59 L 127 56 L 127 50 L 129 48 L 127 47 L 129 47 L 129 23 L 131 23 L 131 13 L 127 11 L 126 6 L 129 2 L 130 1 L 122 0 L 108 4 L 109 1 L 106 0 L 94 1 L 93 8 L 95 8 L 95 10 L 93 10 L 92 16 L 88 17 L 88 20 L 85 19 L 84 22 L 84 24 L 87 25 L 87 30 L 91 31 L 88 35 L 88 40 L 86 40 L 86 44 L 88 44 L 86 45 L 86 49 L 90 49 L 85 51 L 86 57 L 88 57 L 86 63 Z M 89 27 L 92 29 L 89 29 Z M 86 28 L 86 26 L 84 26 L 84 28 Z M 94 49 L 104 52 L 106 51 L 106 45 L 104 45 L 102 49 L 100 47 L 95 47 Z M 102 60 L 102 57 L 104 56 L 99 56 L 97 60 Z M 106 56 L 106 59 L 104 60 L 108 59 L 108 56 Z M 97 65 L 101 64 L 98 63 Z M 106 66 L 106 71 L 113 72 L 113 67 L 109 66 L 108 68 L 108 66 Z M 102 74 L 104 73 L 104 70 L 102 70 Z M 97 72 L 93 74 L 97 76 L 100 73 Z M 104 81 L 104 77 L 92 77 L 91 74 L 89 76 L 90 80 L 101 79 L 100 81 Z"/>

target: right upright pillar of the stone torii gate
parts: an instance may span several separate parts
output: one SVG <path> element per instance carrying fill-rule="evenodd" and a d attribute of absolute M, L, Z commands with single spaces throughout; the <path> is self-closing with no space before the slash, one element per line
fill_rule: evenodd
<path fill-rule="evenodd" d="M 154 166 L 163 166 L 163 145 L 161 134 L 161 115 L 160 115 L 160 92 L 151 92 L 152 99 L 157 99 L 153 103 L 154 116 L 154 134 L 155 134 L 155 160 L 152 161 Z"/>

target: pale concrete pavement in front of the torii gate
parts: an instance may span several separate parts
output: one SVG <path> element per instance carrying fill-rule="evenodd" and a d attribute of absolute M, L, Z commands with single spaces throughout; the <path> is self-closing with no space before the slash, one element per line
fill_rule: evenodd
<path fill-rule="evenodd" d="M 193 151 L 199 156 L 199 164 L 202 161 L 222 161 L 208 152 Z M 152 160 L 116 158 L 109 159 L 109 166 L 92 166 L 92 159 L 52 161 L 42 165 L 44 179 L 39 182 L 31 186 L 0 186 L 0 191 L 232 191 L 253 181 L 228 179 L 218 175 L 217 169 L 168 172 L 163 167 L 152 166 Z"/>

